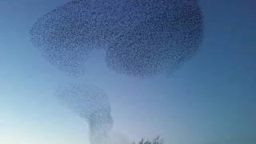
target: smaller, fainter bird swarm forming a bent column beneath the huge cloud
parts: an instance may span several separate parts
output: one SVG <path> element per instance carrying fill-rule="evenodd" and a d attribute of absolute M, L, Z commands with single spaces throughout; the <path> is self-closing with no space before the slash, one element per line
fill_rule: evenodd
<path fill-rule="evenodd" d="M 89 123 L 92 144 L 108 142 L 113 119 L 110 115 L 109 99 L 103 90 L 96 86 L 66 82 L 58 86 L 56 95 L 62 105 Z"/>

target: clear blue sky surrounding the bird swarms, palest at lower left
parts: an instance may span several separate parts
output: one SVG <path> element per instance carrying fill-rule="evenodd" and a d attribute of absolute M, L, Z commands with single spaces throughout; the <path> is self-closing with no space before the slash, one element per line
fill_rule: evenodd
<path fill-rule="evenodd" d="M 131 141 L 256 143 L 256 1 L 202 0 L 205 38 L 198 54 L 166 78 L 109 70 L 90 54 L 84 78 L 50 65 L 30 28 L 68 0 L 0 0 L 0 144 L 89 144 L 86 121 L 61 106 L 62 82 L 85 82 L 110 98 L 114 130 Z"/>

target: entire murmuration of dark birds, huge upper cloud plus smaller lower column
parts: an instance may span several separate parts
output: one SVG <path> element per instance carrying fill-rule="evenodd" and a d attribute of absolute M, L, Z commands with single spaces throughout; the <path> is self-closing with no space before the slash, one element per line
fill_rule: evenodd
<path fill-rule="evenodd" d="M 31 41 L 53 66 L 81 76 L 92 50 L 117 74 L 171 74 L 196 54 L 204 22 L 198 0 L 72 0 L 38 18 Z M 97 86 L 58 86 L 60 102 L 86 118 L 92 144 L 109 143 L 110 102 Z"/>

